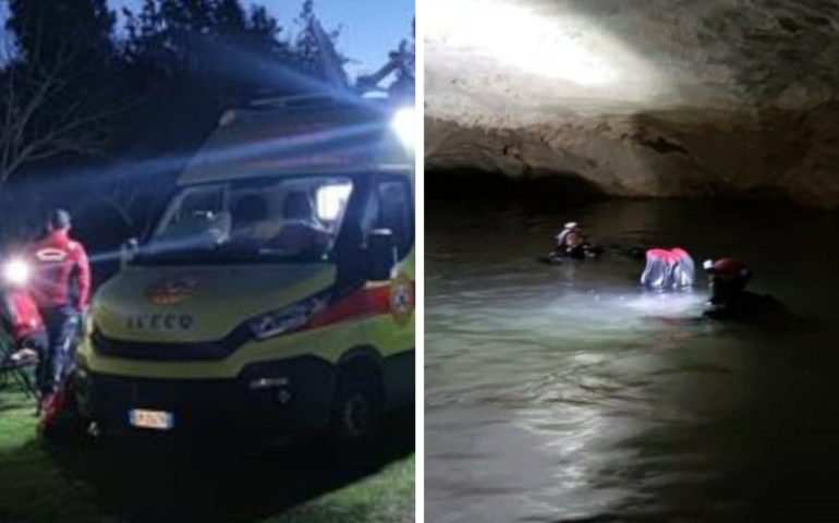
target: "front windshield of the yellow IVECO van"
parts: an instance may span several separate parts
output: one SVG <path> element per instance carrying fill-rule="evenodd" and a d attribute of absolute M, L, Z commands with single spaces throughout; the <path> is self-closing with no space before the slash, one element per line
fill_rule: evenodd
<path fill-rule="evenodd" d="M 327 260 L 352 188 L 350 178 L 326 175 L 184 187 L 135 262 Z"/>

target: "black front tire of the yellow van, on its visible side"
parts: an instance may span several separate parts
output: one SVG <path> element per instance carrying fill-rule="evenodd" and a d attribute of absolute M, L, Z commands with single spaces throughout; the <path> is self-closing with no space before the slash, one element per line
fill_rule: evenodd
<path fill-rule="evenodd" d="M 381 421 L 381 378 L 373 364 L 341 367 L 332 405 L 330 433 L 344 443 L 369 439 Z"/>

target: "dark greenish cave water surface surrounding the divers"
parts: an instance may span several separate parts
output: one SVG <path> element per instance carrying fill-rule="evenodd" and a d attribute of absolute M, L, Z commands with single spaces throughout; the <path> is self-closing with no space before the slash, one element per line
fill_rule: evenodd
<path fill-rule="evenodd" d="M 732 220 L 738 212 L 672 203 L 573 216 L 430 208 L 428 521 L 839 514 L 824 481 L 839 467 L 839 364 L 826 327 L 839 319 L 837 220 L 790 222 L 759 207 Z M 692 321 L 706 290 L 644 292 L 643 264 L 629 258 L 536 264 L 571 218 L 604 243 L 741 256 L 755 289 L 771 290 L 803 326 Z M 778 255 L 778 235 L 797 230 L 804 244 L 819 239 L 818 256 Z"/>

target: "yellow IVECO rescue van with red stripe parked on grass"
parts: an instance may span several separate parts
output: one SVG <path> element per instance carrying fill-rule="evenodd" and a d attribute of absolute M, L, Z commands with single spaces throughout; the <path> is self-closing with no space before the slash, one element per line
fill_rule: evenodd
<path fill-rule="evenodd" d="M 105 431 L 366 436 L 414 401 L 413 100 L 228 111 L 95 294 L 80 411 Z"/>

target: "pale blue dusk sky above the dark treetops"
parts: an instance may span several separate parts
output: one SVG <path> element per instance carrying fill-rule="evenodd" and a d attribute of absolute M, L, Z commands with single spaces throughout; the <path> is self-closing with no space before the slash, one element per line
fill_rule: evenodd
<path fill-rule="evenodd" d="M 136 9 L 142 0 L 109 0 L 111 9 Z M 243 0 L 242 4 L 267 5 L 284 28 L 292 21 L 303 0 Z M 5 1 L 0 0 L 0 19 L 5 19 Z M 327 31 L 343 26 L 339 49 L 354 62 L 348 64 L 351 75 L 373 72 L 385 63 L 387 52 L 411 33 L 414 0 L 315 0 L 315 12 Z M 2 51 L 0 51 L 1 53 Z"/>

